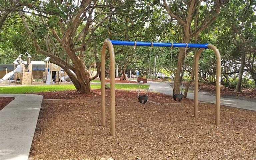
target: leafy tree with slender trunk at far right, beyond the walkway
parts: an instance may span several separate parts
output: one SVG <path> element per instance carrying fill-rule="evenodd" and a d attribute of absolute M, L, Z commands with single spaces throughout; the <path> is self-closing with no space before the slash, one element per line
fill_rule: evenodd
<path fill-rule="evenodd" d="M 222 17 L 226 20 L 226 22 L 231 23 L 230 29 L 227 31 L 229 31 L 232 35 L 232 42 L 236 46 L 238 55 L 241 56 L 239 78 L 237 81 L 235 92 L 242 91 L 242 77 L 245 68 L 246 55 L 248 53 L 250 54 L 250 56 L 247 68 L 251 71 L 251 75 L 252 77 L 254 77 L 254 81 L 256 80 L 256 70 L 253 69 L 256 50 L 255 5 L 256 1 L 254 0 L 235 0 L 226 3 L 223 10 Z"/>

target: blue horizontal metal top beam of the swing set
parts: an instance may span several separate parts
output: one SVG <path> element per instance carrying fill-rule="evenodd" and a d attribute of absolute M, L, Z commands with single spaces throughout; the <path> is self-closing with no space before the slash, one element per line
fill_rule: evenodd
<path fill-rule="evenodd" d="M 124 45 L 124 46 L 134 46 L 134 41 L 116 41 L 110 40 L 113 45 Z M 173 47 L 188 47 L 188 48 L 205 48 L 207 49 L 208 43 L 205 44 L 194 44 L 188 43 L 173 43 Z M 138 42 L 136 41 L 136 46 L 151 46 L 151 42 Z M 165 43 L 165 42 L 153 42 L 153 47 L 171 47 L 172 43 Z"/>

